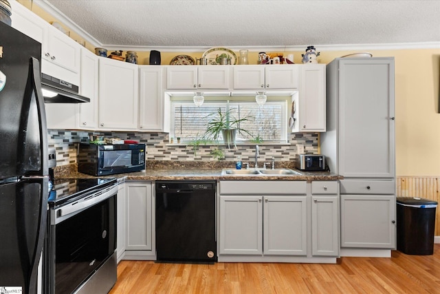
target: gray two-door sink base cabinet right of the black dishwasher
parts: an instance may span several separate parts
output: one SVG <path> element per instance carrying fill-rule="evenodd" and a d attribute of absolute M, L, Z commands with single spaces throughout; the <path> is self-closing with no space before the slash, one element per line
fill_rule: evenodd
<path fill-rule="evenodd" d="M 306 182 L 220 182 L 219 254 L 307 255 Z"/>

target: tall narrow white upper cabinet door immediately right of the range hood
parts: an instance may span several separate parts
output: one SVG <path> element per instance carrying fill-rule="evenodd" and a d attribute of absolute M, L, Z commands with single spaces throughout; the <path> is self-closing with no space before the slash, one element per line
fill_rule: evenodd
<path fill-rule="evenodd" d="M 98 128 L 98 56 L 83 48 L 81 50 L 80 94 L 90 98 L 89 103 L 80 103 L 78 127 Z"/>

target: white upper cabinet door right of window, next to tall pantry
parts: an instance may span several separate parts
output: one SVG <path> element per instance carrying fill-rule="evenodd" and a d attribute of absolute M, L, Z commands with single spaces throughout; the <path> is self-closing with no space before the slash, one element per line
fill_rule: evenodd
<path fill-rule="evenodd" d="M 299 130 L 300 132 L 325 132 L 325 65 L 303 65 L 300 72 Z"/>

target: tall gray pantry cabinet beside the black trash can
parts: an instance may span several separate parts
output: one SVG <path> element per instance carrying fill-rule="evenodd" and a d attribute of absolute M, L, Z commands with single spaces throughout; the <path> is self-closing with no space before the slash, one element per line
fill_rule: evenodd
<path fill-rule="evenodd" d="M 341 255 L 395 248 L 394 59 L 327 65 L 327 132 L 321 152 L 340 181 Z M 371 250 L 377 249 L 377 250 Z M 362 253 L 363 252 L 363 253 Z"/>

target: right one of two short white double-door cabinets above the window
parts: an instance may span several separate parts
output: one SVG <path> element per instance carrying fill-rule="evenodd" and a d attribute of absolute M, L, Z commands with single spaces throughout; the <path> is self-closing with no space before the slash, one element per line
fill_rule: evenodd
<path fill-rule="evenodd" d="M 298 65 L 236 65 L 233 87 L 236 90 L 297 89 L 298 70 Z"/>

